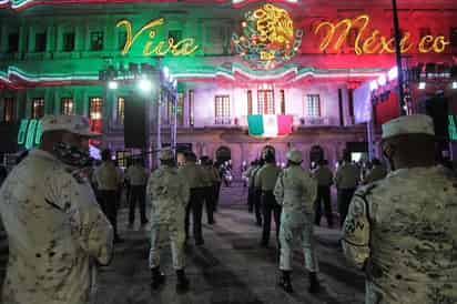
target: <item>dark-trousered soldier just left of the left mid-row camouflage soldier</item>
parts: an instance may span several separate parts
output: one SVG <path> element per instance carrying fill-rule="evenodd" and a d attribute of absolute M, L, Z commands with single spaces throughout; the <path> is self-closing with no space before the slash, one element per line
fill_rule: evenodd
<path fill-rule="evenodd" d="M 140 204 L 141 224 L 148 223 L 145 211 L 145 192 L 148 183 L 148 171 L 142 164 L 142 160 L 134 160 L 133 165 L 129 166 L 125 173 L 129 180 L 131 193 L 129 195 L 129 225 L 132 226 L 135 221 L 135 205 L 136 201 Z"/>

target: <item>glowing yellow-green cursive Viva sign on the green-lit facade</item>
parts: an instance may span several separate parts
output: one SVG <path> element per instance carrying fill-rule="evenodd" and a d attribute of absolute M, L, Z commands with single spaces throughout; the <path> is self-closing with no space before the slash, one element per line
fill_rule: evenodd
<path fill-rule="evenodd" d="M 169 38 L 167 40 L 155 41 L 156 30 L 164 23 L 165 20 L 163 18 L 154 19 L 133 33 L 132 22 L 129 20 L 119 21 L 115 24 L 116 28 L 124 27 L 126 31 L 126 40 L 122 48 L 122 54 L 129 53 L 136 39 L 144 32 L 149 32 L 149 40 L 143 48 L 144 55 L 190 55 L 199 49 L 199 45 L 193 38 L 185 38 L 179 41 Z"/>

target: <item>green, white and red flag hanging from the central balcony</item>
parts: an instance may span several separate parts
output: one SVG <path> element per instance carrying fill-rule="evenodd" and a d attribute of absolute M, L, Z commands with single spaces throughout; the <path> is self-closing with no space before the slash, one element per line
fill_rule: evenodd
<path fill-rule="evenodd" d="M 248 115 L 250 135 L 275 138 L 292 133 L 292 115 Z"/>

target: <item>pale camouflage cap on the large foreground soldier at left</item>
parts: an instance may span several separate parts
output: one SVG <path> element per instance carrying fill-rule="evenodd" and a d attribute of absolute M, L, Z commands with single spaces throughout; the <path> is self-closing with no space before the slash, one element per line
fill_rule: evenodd
<path fill-rule="evenodd" d="M 91 132 L 89 119 L 81 115 L 45 115 L 41 120 L 42 132 L 68 131 L 82 136 L 100 136 L 99 133 Z"/>

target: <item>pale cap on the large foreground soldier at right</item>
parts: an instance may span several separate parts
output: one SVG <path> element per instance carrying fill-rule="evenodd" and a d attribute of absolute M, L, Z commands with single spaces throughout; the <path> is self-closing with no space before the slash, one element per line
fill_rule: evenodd
<path fill-rule="evenodd" d="M 434 122 L 424 114 L 399 116 L 383 124 L 383 140 L 404 134 L 435 135 Z"/>

